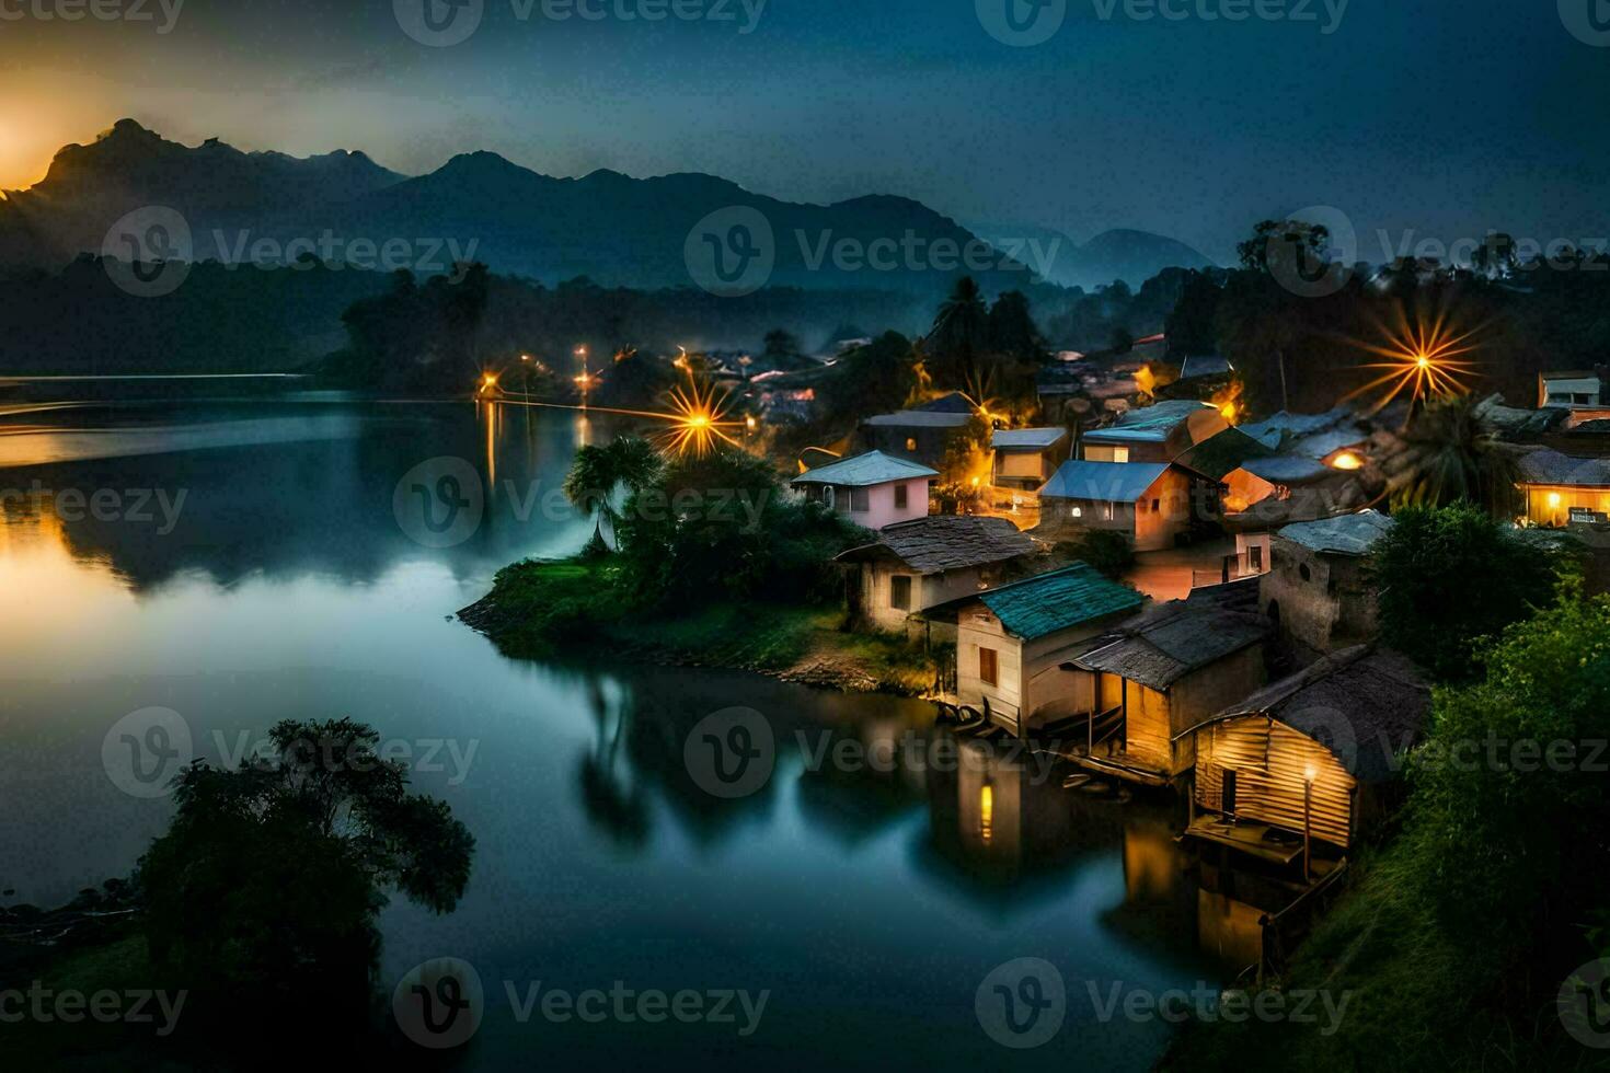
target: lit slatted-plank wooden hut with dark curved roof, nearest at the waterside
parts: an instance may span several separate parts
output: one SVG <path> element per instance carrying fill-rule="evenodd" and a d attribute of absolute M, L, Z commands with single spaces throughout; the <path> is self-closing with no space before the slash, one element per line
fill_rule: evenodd
<path fill-rule="evenodd" d="M 1430 698 L 1407 660 L 1360 645 L 1225 708 L 1179 737 L 1196 756 L 1187 833 L 1286 864 L 1304 835 L 1352 849 L 1401 796 Z"/>

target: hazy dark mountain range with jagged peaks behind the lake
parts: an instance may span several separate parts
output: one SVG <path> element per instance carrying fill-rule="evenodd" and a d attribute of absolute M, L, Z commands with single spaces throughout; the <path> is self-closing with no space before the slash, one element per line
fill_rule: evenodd
<path fill-rule="evenodd" d="M 741 290 L 934 294 L 952 277 L 972 275 L 990 293 L 1038 278 L 1085 288 L 1122 278 L 1138 288 L 1164 267 L 1208 264 L 1145 232 L 1108 232 L 1084 246 L 1046 228 L 985 228 L 980 238 L 887 195 L 819 206 L 704 174 L 554 179 L 496 153 L 456 156 L 409 177 L 364 153 L 243 153 L 217 138 L 185 146 L 122 119 L 90 145 L 63 148 L 32 188 L 6 191 L 0 267 L 55 270 L 100 253 L 114 225 L 134 219 L 138 227 L 140 211 L 153 206 L 187 225 L 188 243 L 174 251 L 180 259 L 283 264 L 316 249 L 322 259 L 420 275 L 473 259 L 544 283 L 591 277 L 609 286 L 726 286 L 726 277 L 710 277 L 710 264 L 700 267 L 700 259 L 721 257 L 733 272 L 758 264 L 731 283 Z M 385 261 L 378 251 L 388 251 Z"/>

